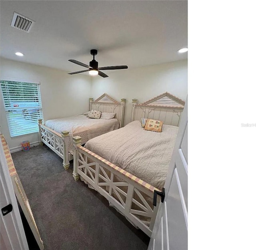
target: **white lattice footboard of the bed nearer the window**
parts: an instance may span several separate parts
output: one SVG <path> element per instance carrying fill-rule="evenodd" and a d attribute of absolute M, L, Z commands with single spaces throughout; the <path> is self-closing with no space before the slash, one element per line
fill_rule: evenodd
<path fill-rule="evenodd" d="M 62 131 L 61 135 L 52 129 L 42 125 L 42 119 L 38 119 L 39 126 L 39 143 L 42 146 L 43 143 L 47 145 L 52 151 L 54 151 L 59 157 L 63 159 L 63 167 L 68 170 L 69 153 L 68 153 L 68 140 L 69 132 Z"/>

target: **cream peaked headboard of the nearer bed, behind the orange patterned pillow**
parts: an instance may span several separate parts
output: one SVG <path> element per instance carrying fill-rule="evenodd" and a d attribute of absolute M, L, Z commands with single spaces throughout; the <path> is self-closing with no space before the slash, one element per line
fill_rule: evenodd
<path fill-rule="evenodd" d="M 131 121 L 149 118 L 163 121 L 167 125 L 179 126 L 185 105 L 182 99 L 166 92 L 144 103 L 137 102 L 137 99 L 132 99 Z"/>

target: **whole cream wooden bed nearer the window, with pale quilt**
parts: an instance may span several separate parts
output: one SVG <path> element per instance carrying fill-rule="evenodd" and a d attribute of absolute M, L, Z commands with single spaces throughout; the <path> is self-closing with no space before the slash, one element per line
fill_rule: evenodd
<path fill-rule="evenodd" d="M 90 119 L 87 115 L 81 114 L 48 120 L 44 125 L 42 119 L 38 120 L 40 145 L 44 143 L 60 156 L 63 159 L 65 170 L 69 168 L 69 161 L 73 159 L 73 136 L 80 136 L 84 144 L 89 139 L 123 126 L 126 99 L 121 99 L 121 102 L 118 102 L 104 93 L 95 101 L 93 98 L 90 98 L 89 101 L 90 111 L 116 113 L 115 117 L 113 119 Z"/>

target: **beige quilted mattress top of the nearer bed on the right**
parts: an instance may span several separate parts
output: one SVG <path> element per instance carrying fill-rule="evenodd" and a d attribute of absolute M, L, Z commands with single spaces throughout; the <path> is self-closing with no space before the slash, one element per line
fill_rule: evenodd
<path fill-rule="evenodd" d="M 178 127 L 162 132 L 144 130 L 140 121 L 89 140 L 84 147 L 118 167 L 162 189 L 170 165 Z"/>

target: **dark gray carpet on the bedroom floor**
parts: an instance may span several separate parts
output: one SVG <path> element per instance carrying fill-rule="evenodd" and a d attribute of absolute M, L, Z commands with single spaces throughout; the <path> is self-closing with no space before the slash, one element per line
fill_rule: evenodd
<path fill-rule="evenodd" d="M 46 146 L 12 153 L 46 250 L 140 250 L 149 238 Z"/>

